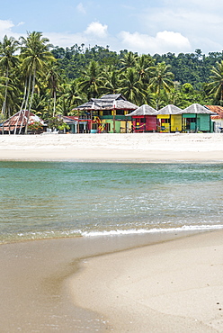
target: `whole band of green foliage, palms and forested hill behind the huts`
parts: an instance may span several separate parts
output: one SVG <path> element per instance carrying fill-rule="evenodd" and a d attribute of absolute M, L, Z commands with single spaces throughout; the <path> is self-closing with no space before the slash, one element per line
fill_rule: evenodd
<path fill-rule="evenodd" d="M 223 52 L 139 55 L 102 46 L 53 47 L 41 32 L 0 41 L 0 120 L 29 110 L 44 120 L 74 115 L 77 105 L 123 94 L 138 106 L 223 102 Z M 1 122 L 0 121 L 0 122 Z"/>

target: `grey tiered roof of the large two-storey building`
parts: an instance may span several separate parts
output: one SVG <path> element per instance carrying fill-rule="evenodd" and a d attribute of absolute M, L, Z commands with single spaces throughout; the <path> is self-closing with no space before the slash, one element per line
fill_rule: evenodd
<path fill-rule="evenodd" d="M 138 106 L 126 100 L 122 94 L 104 94 L 101 98 L 92 98 L 89 102 L 77 106 L 74 110 L 135 110 Z"/>

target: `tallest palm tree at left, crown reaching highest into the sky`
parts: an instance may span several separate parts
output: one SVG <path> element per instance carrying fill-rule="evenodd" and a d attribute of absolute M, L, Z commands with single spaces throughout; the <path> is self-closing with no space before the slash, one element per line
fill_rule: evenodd
<path fill-rule="evenodd" d="M 46 70 L 49 63 L 55 58 L 49 52 L 51 47 L 49 39 L 42 37 L 41 32 L 28 32 L 27 38 L 21 37 L 21 45 L 22 69 L 26 71 L 29 77 L 28 82 L 26 82 L 26 85 L 28 85 L 26 105 L 29 101 L 28 120 L 25 127 L 25 132 L 27 133 L 36 76 L 42 76 L 43 70 Z"/>

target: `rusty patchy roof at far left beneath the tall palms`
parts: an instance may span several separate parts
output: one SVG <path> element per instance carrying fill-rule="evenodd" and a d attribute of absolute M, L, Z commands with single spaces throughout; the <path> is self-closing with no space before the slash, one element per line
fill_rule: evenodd
<path fill-rule="evenodd" d="M 15 127 L 17 128 L 23 128 L 26 126 L 26 123 L 28 121 L 29 111 L 19 111 L 15 114 L 13 114 L 12 117 L 8 118 L 6 121 L 1 124 L 1 128 L 4 126 L 4 130 L 14 130 Z M 46 126 L 44 121 L 40 119 L 36 114 L 30 112 L 30 117 L 28 124 L 31 124 L 32 122 L 40 122 L 42 126 Z"/>

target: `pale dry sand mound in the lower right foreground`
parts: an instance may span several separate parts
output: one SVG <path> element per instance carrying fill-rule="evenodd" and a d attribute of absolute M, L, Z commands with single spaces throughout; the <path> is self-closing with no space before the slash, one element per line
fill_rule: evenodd
<path fill-rule="evenodd" d="M 113 332 L 223 332 L 223 231 L 85 261 L 74 301 Z"/>

